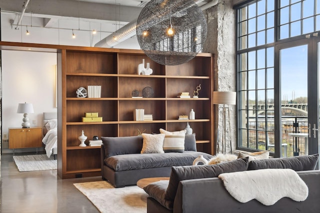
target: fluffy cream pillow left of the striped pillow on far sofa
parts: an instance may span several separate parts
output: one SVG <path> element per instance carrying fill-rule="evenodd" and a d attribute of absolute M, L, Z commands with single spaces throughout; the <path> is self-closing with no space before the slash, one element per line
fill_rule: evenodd
<path fill-rule="evenodd" d="M 143 143 L 141 154 L 143 153 L 164 153 L 162 146 L 164 134 L 145 134 L 142 133 Z"/>

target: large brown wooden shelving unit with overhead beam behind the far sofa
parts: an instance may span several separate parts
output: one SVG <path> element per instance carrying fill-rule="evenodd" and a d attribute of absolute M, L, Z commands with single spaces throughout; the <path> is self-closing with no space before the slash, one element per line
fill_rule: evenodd
<path fill-rule="evenodd" d="M 58 93 L 58 176 L 62 179 L 100 176 L 100 147 L 79 147 L 84 131 L 87 141 L 93 136 L 134 136 L 140 131 L 158 133 L 182 130 L 189 122 L 196 134 L 197 150 L 214 153 L 212 105 L 213 55 L 199 53 L 190 61 L 164 66 L 150 60 L 142 50 L 76 47 L 16 42 L 0 42 L 1 49 L 57 52 Z M 145 59 L 153 73 L 137 75 L 137 65 Z M 181 99 L 180 92 L 193 94 L 201 84 L 199 98 Z M 101 85 L 101 98 L 77 98 L 76 90 Z M 152 98 L 131 98 L 149 86 Z M 143 108 L 153 121 L 133 121 L 133 110 Z M 195 120 L 178 120 L 181 114 L 195 111 Z M 82 122 L 85 112 L 98 112 L 102 122 Z M 87 142 L 86 142 L 87 143 Z"/>

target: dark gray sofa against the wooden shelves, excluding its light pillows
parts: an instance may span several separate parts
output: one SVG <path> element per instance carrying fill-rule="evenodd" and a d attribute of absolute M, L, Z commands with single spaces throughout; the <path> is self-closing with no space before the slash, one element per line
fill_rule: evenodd
<path fill-rule="evenodd" d="M 195 135 L 186 135 L 183 153 L 140 154 L 142 136 L 101 137 L 101 175 L 115 188 L 135 185 L 142 178 L 169 177 L 172 166 L 192 165 L 199 155 L 205 159 L 211 155 L 196 152 Z"/>

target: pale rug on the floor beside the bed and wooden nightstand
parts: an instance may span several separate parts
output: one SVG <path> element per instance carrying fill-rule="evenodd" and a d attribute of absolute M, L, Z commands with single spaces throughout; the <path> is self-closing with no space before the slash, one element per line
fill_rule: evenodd
<path fill-rule="evenodd" d="M 13 161 L 19 172 L 56 170 L 56 160 L 46 155 L 13 156 Z"/>

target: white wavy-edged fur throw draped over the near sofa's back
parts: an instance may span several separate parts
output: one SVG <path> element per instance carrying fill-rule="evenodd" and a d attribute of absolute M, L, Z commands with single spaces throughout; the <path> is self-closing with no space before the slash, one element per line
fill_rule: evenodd
<path fill-rule="evenodd" d="M 291 169 L 223 173 L 218 178 L 223 181 L 230 195 L 241 203 L 256 199 L 261 204 L 270 206 L 283 197 L 297 202 L 308 197 L 308 187 Z"/>

